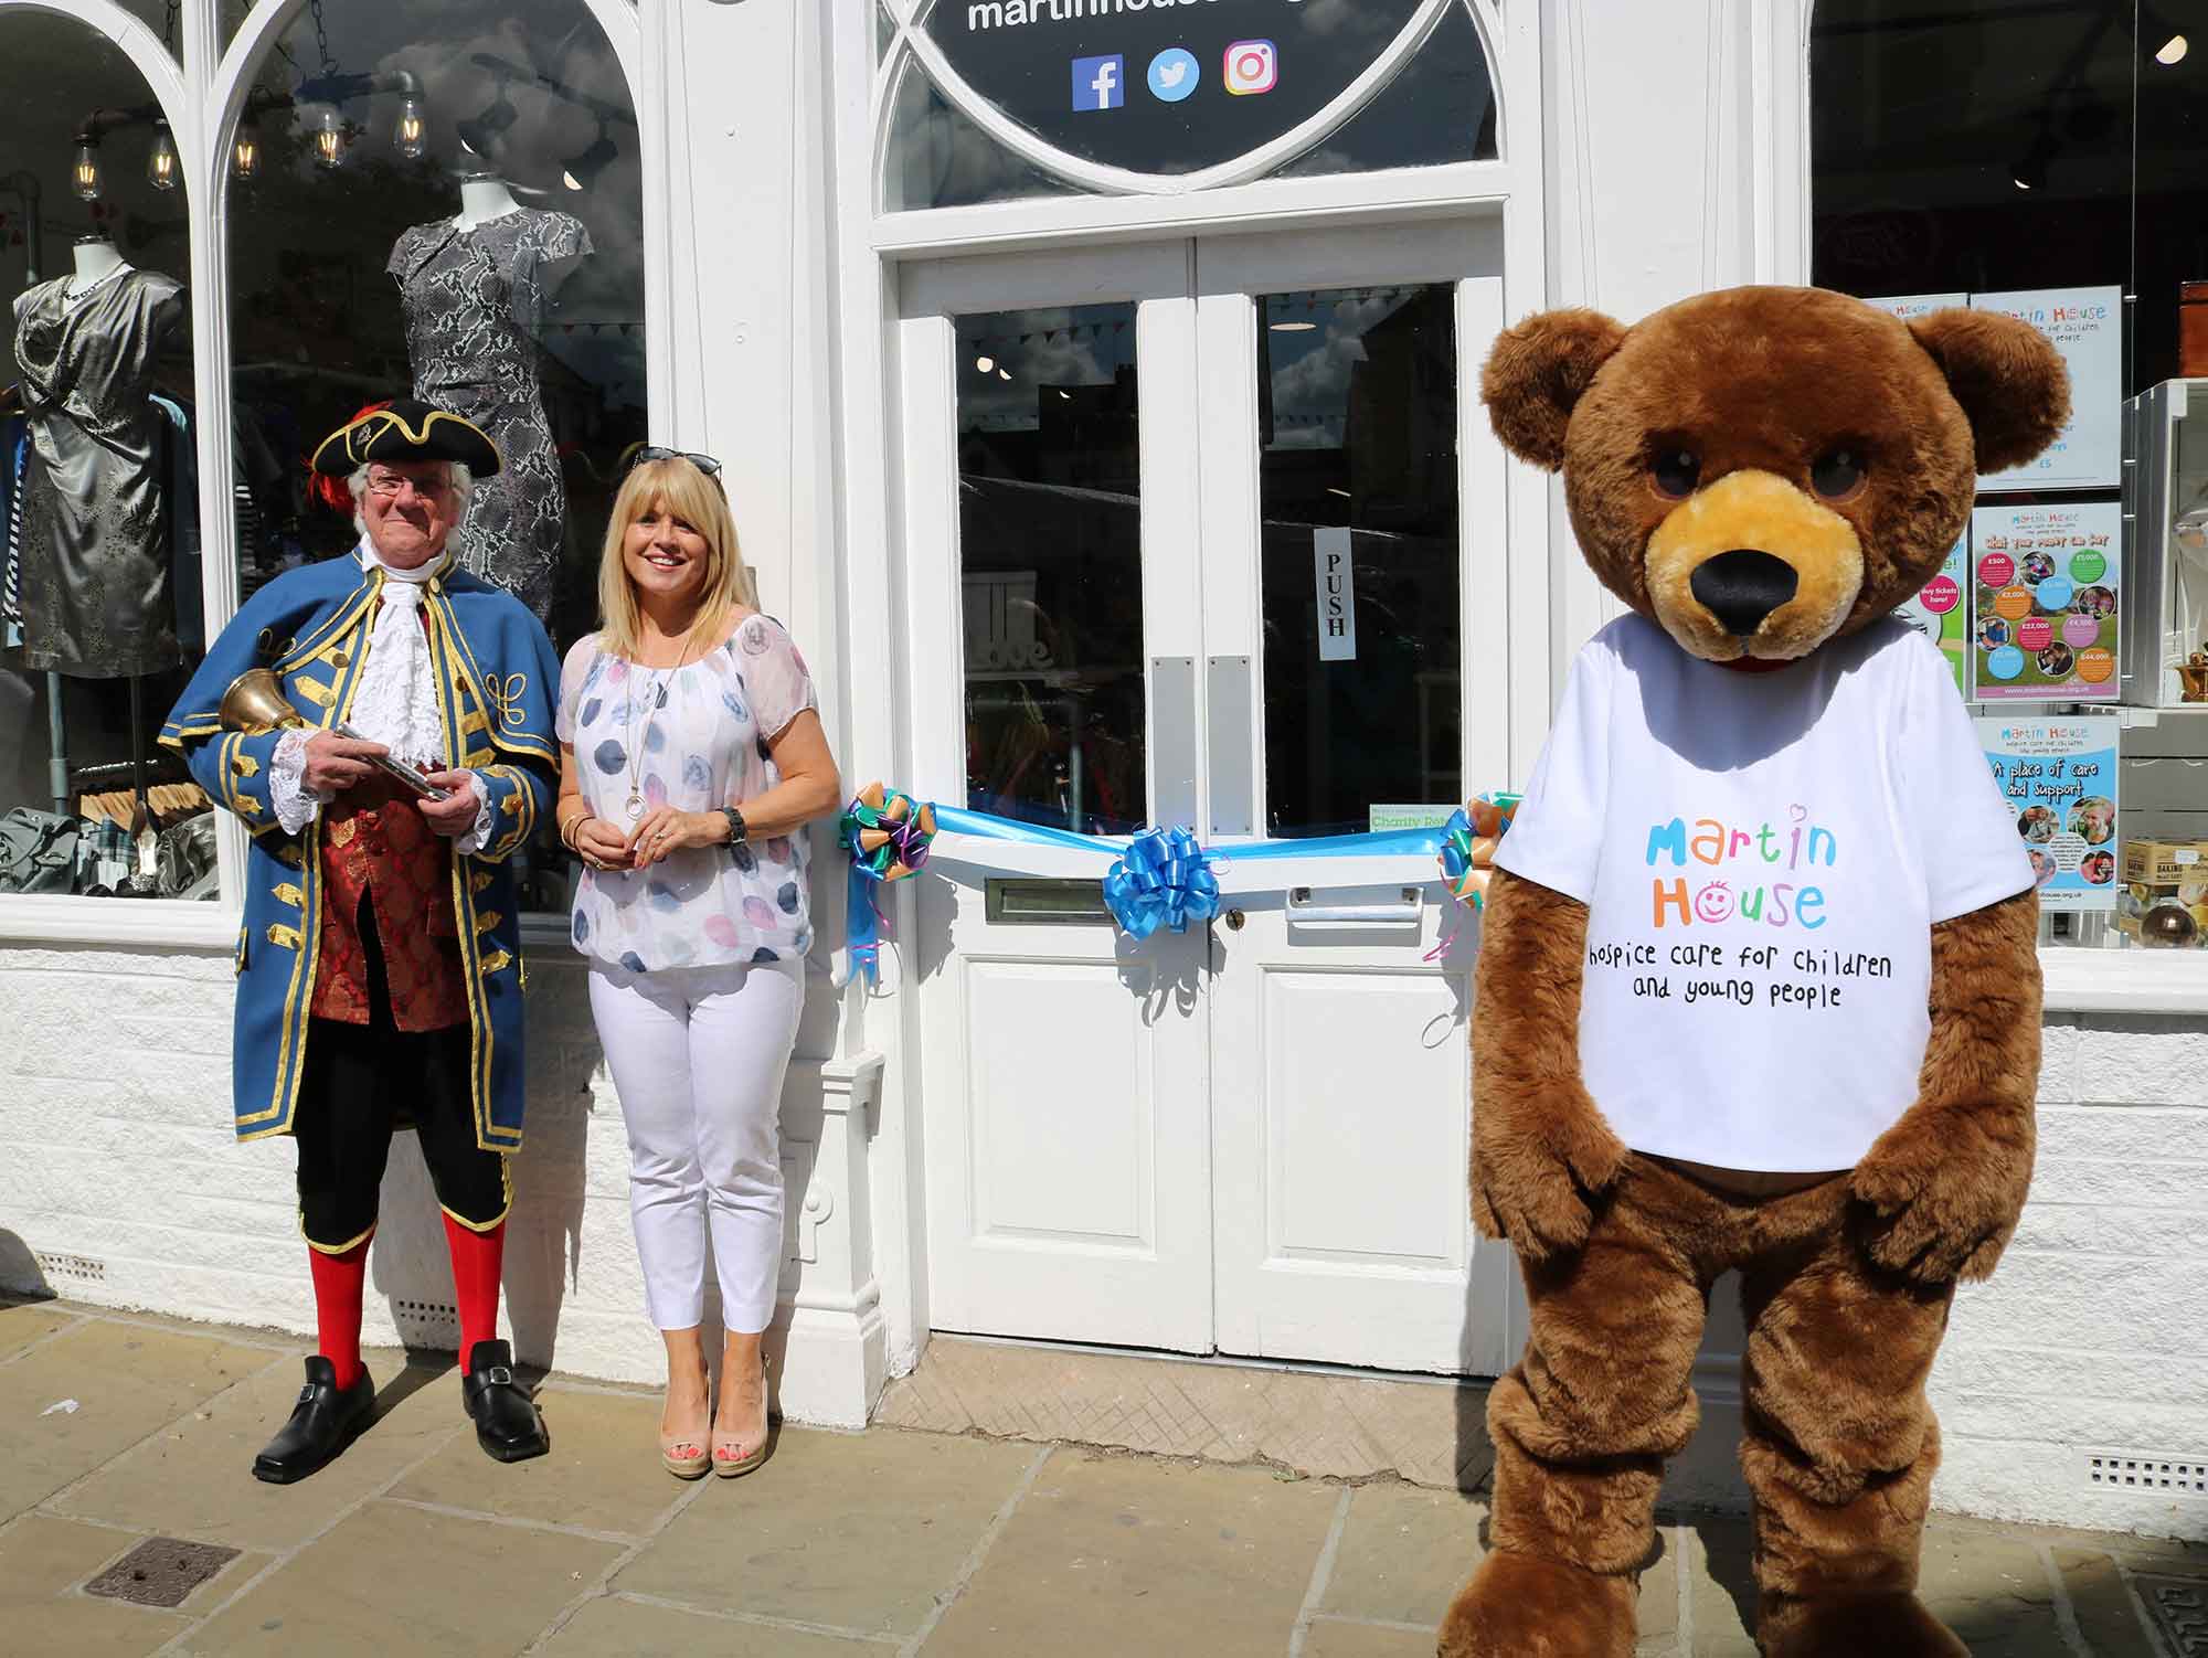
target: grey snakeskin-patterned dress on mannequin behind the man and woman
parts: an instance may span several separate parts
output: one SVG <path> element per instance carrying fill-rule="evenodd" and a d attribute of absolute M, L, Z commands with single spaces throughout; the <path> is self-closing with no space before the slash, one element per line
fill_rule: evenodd
<path fill-rule="evenodd" d="M 461 567 L 552 616 L 567 486 L 545 424 L 537 342 L 545 267 L 590 254 L 581 219 L 541 208 L 464 230 L 415 225 L 391 249 L 415 397 L 481 426 L 506 466 L 477 479 L 459 525 Z"/>

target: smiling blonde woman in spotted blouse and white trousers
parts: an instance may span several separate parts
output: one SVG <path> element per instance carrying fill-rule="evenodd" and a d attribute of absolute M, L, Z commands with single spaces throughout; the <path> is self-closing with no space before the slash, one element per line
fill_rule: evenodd
<path fill-rule="evenodd" d="M 680 1479 L 740 1475 L 766 1457 L 777 1106 L 813 945 L 802 830 L 843 797 L 806 662 L 753 603 L 720 461 L 638 453 L 605 530 L 598 609 L 559 700 L 559 832 L 585 865 L 574 945 L 667 1342 L 660 1462 Z M 711 1417 L 707 1239 L 726 1331 Z"/>

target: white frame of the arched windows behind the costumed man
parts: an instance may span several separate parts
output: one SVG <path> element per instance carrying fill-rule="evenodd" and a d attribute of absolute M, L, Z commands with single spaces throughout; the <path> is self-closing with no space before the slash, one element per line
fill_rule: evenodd
<path fill-rule="evenodd" d="M 581 0 L 605 31 L 629 82 L 640 117 L 658 106 L 656 55 L 647 55 L 645 20 L 627 0 Z M 245 106 L 252 75 L 267 44 L 307 9 L 307 0 L 258 0 L 225 46 L 219 0 L 185 0 L 179 13 L 181 60 L 170 57 L 139 18 L 115 0 L 0 0 L 0 29 L 26 11 L 84 24 L 130 57 L 152 99 L 168 117 L 183 161 L 183 201 L 190 223 L 188 291 L 192 305 L 192 391 L 199 406 L 199 534 L 205 570 L 205 625 L 212 640 L 238 609 L 236 519 L 230 503 L 230 137 Z M 645 375 L 647 422 L 667 431 L 671 417 L 673 316 L 669 265 L 654 254 L 667 243 L 667 130 L 638 121 L 645 168 Z M 219 486 L 219 488 L 216 488 Z M 88 899 L 79 894 L 0 894 L 0 945 L 75 943 L 117 949 L 227 949 L 245 907 L 245 828 L 216 817 L 221 896 L 214 903 L 179 899 Z M 559 929 L 565 943 L 565 927 Z"/>

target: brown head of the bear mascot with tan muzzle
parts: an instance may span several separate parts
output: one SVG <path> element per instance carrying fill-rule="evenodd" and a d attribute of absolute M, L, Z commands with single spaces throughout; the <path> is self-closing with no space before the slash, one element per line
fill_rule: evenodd
<path fill-rule="evenodd" d="M 1563 470 L 1603 585 L 1709 662 L 1786 662 L 1917 594 L 1978 472 L 2069 417 L 2029 322 L 1901 322 L 1844 294 L 1738 287 L 1621 327 L 1548 311 L 1482 380 L 1504 446 Z"/>

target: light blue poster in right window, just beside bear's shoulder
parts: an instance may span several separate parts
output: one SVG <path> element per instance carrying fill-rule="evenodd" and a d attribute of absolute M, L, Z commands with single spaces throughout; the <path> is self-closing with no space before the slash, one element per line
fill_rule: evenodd
<path fill-rule="evenodd" d="M 2115 742 L 2122 720 L 1978 720 L 2042 910 L 2115 910 Z"/>

